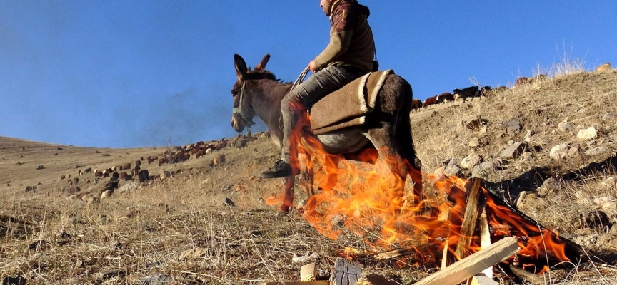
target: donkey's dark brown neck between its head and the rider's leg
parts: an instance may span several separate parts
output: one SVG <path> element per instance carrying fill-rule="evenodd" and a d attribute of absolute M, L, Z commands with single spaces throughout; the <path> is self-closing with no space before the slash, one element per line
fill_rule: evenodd
<path fill-rule="evenodd" d="M 256 81 L 260 98 L 252 100 L 256 115 L 266 123 L 275 142 L 283 139 L 283 118 L 281 118 L 281 101 L 291 88 L 289 83 L 261 79 Z"/>

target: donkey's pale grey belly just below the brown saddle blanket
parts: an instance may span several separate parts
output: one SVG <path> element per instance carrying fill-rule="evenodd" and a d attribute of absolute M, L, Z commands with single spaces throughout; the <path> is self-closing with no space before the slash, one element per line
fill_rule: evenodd
<path fill-rule="evenodd" d="M 317 135 L 317 138 L 326 152 L 334 154 L 356 152 L 371 142 L 366 136 L 366 131 L 361 127 L 337 130 L 333 133 Z"/>

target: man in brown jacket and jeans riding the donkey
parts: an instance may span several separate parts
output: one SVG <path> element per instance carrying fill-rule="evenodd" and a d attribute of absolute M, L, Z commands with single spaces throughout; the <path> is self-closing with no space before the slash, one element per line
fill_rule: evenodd
<path fill-rule="evenodd" d="M 320 0 L 320 6 L 330 18 L 330 43 L 308 63 L 308 70 L 313 76 L 291 90 L 281 101 L 281 159 L 261 173 L 262 178 L 289 177 L 292 174 L 290 137 L 296 130 L 299 114 L 329 93 L 370 71 L 376 71 L 377 67 L 373 66 L 376 64 L 373 61 L 375 41 L 368 25 L 368 7 L 356 0 Z"/>

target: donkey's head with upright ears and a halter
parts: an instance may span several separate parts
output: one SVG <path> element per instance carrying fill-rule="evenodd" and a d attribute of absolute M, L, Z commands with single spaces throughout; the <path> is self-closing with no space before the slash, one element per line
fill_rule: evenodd
<path fill-rule="evenodd" d="M 244 59 L 234 54 L 234 66 L 236 68 L 236 76 L 238 81 L 231 89 L 231 95 L 234 96 L 234 109 L 231 115 L 231 128 L 236 132 L 241 132 L 244 127 L 253 125 L 255 117 L 255 108 L 253 98 L 259 93 L 259 79 L 274 78 L 274 74 L 266 71 L 266 63 L 268 63 L 270 55 L 266 54 L 261 62 L 255 66 L 254 70 L 246 67 Z"/>

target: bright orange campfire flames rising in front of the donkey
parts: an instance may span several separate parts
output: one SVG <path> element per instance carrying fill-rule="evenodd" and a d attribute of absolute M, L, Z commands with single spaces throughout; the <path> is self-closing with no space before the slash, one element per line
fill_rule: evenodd
<path fill-rule="evenodd" d="M 461 237 L 468 180 L 413 173 L 412 170 L 409 176 L 421 175 L 423 181 L 430 181 L 432 185 L 424 187 L 423 197 L 417 197 L 411 180 L 403 182 L 401 177 L 390 172 L 388 164 L 398 162 L 391 157 L 378 157 L 376 151 L 361 154 L 362 161 L 374 162 L 374 166 L 348 160 L 334 165 L 321 143 L 305 133 L 302 126 L 308 124 L 308 118 L 301 117 L 299 130 L 291 138 L 292 145 L 297 145 L 291 157 L 299 154 L 311 157 L 302 164 L 314 170 L 312 186 L 321 191 L 308 199 L 303 217 L 318 232 L 331 239 L 343 233 L 355 234 L 373 249 L 414 249 L 426 260 L 441 259 L 446 246 L 456 248 Z M 292 164 L 299 165 L 299 162 L 292 158 Z M 482 192 L 486 197 L 492 242 L 503 237 L 517 237 L 521 252 L 515 259 L 521 265 L 535 265 L 547 256 L 569 260 L 558 234 L 520 217 L 493 200 L 486 189 L 482 188 Z M 282 198 L 275 200 L 280 202 Z M 470 254 L 481 249 L 479 238 L 474 235 L 471 246 L 466 249 Z M 351 254 L 351 251 L 346 250 L 346 253 Z"/>

